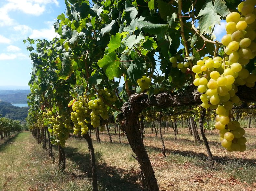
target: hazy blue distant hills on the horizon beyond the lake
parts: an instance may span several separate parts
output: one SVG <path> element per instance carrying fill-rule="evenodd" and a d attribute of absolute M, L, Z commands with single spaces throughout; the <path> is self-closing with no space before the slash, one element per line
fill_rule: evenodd
<path fill-rule="evenodd" d="M 0 90 L 0 101 L 8 103 L 27 103 L 30 90 Z"/>

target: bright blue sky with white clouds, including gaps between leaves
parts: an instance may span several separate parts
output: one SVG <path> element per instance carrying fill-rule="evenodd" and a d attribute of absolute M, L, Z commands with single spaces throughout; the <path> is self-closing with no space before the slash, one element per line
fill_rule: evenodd
<path fill-rule="evenodd" d="M 27 37 L 49 41 L 56 37 L 53 23 L 65 7 L 64 0 L 0 1 L 0 86 L 28 86 L 31 60 L 22 41 Z M 225 22 L 214 32 L 220 40 Z"/>

